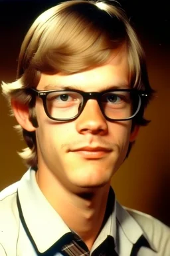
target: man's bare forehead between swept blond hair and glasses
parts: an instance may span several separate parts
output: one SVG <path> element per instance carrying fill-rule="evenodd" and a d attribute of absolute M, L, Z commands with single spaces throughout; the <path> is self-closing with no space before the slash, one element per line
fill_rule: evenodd
<path fill-rule="evenodd" d="M 86 71 L 70 75 L 42 73 L 37 89 L 64 89 L 64 87 L 82 91 L 102 91 L 114 87 L 129 87 L 129 65 L 126 47 L 123 45 L 114 50 L 112 56 L 104 65 L 92 67 Z"/>

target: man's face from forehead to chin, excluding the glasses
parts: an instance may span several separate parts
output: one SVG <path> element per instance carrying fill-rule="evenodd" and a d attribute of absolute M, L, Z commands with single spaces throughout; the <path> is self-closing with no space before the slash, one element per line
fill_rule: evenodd
<path fill-rule="evenodd" d="M 78 89 L 104 91 L 129 87 L 126 49 L 112 55 L 105 65 L 64 75 L 41 75 L 38 90 Z M 131 121 L 107 121 L 95 99 L 90 99 L 74 121 L 49 119 L 37 98 L 36 129 L 40 175 L 52 175 L 66 189 L 87 189 L 110 184 L 112 175 L 126 157 L 131 135 Z"/>

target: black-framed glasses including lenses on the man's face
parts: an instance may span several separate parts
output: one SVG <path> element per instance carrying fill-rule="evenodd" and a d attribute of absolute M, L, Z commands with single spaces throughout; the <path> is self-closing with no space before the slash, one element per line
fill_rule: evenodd
<path fill-rule="evenodd" d="M 84 92 L 74 89 L 31 92 L 42 99 L 46 115 L 56 121 L 76 119 L 90 99 L 98 102 L 104 117 L 109 121 L 125 121 L 137 115 L 145 91 L 136 89 L 112 89 L 102 92 Z"/>

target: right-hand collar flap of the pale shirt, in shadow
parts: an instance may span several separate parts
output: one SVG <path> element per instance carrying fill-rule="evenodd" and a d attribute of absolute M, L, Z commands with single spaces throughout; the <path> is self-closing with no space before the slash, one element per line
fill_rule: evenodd
<path fill-rule="evenodd" d="M 118 201 L 116 201 L 112 187 L 110 188 L 107 208 L 110 209 L 110 214 L 108 215 L 108 219 L 92 247 L 92 251 L 94 251 L 94 249 L 96 249 L 98 245 L 100 245 L 106 239 L 106 237 L 108 237 L 108 235 L 114 237 L 115 245 L 118 243 L 118 239 L 122 241 L 125 241 L 126 239 L 126 245 L 127 243 L 131 245 L 129 248 L 132 248 L 137 240 L 143 235 L 143 237 L 145 237 L 149 243 L 151 249 L 153 249 L 153 251 L 157 251 L 157 247 L 153 244 L 151 239 L 147 237 L 147 234 L 143 231 L 143 229 L 141 229 L 137 221 L 131 217 L 128 211 L 126 211 L 126 209 L 124 209 L 124 207 L 122 207 Z M 116 223 L 118 225 L 116 225 Z M 120 237 L 118 238 L 117 226 L 122 229 L 124 237 L 121 236 L 122 233 L 119 233 Z M 118 249 L 118 244 L 116 246 Z M 124 246 L 124 243 L 119 245 L 120 251 L 123 251 L 121 247 Z"/>

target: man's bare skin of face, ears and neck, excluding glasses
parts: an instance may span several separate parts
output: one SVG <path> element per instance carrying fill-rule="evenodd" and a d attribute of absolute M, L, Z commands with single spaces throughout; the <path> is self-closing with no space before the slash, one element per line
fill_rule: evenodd
<path fill-rule="evenodd" d="M 82 91 L 129 87 L 126 47 L 114 51 L 105 65 L 81 73 L 42 73 L 37 89 L 63 87 Z M 131 133 L 131 121 L 107 121 L 94 99 L 76 120 L 58 123 L 46 116 L 37 98 L 38 128 L 29 121 L 27 107 L 15 101 L 12 105 L 21 126 L 36 131 L 37 183 L 42 193 L 90 249 L 104 219 L 111 178 L 122 165 L 138 127 Z"/>

